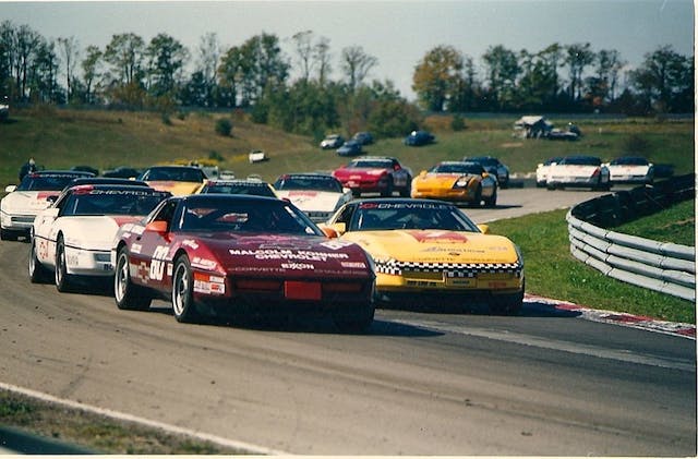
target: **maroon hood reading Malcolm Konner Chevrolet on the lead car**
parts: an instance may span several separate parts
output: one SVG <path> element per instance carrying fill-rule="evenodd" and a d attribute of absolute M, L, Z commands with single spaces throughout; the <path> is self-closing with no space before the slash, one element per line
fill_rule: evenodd
<path fill-rule="evenodd" d="M 192 265 L 227 273 L 309 278 L 313 274 L 342 277 L 372 277 L 371 262 L 365 252 L 348 241 L 324 237 L 215 233 L 186 242 L 196 246 L 198 259 Z M 203 245 L 203 246 L 200 246 Z M 217 264 L 222 266 L 216 266 Z"/>

